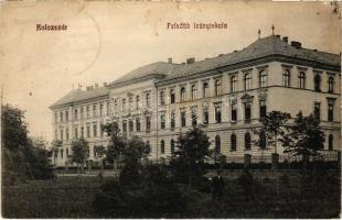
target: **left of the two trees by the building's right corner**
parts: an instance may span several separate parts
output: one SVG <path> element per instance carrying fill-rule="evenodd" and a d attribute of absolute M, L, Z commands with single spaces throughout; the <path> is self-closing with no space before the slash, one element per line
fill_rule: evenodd
<path fill-rule="evenodd" d="M 291 114 L 281 111 L 271 111 L 261 121 L 261 128 L 255 130 L 256 134 L 259 134 L 258 145 L 263 146 L 266 143 L 275 146 L 275 153 L 277 152 L 278 141 L 282 140 L 282 136 L 286 134 L 287 121 L 291 118 Z M 265 136 L 265 140 L 260 139 L 260 134 Z M 266 143 L 263 143 L 265 142 Z"/>

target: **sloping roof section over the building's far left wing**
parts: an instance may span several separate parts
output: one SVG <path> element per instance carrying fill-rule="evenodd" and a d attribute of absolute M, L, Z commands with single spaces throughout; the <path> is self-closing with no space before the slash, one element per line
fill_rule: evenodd
<path fill-rule="evenodd" d="M 109 90 L 106 87 L 98 87 L 90 90 L 73 89 L 64 97 L 62 97 L 60 100 L 54 102 L 50 108 L 54 108 L 66 103 L 74 103 L 77 101 L 83 101 L 107 95 L 109 95 Z"/>

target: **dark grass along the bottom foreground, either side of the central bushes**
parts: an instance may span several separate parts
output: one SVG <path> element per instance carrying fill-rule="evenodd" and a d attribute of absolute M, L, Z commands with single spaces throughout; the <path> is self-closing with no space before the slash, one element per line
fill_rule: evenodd
<path fill-rule="evenodd" d="M 309 188 L 301 197 L 298 176 L 285 186 L 276 178 L 255 178 L 255 200 L 245 201 L 236 178 L 226 178 L 224 198 L 213 202 L 211 195 L 190 194 L 186 216 L 179 218 L 336 218 L 340 215 L 340 182 L 335 186 Z M 6 218 L 100 218 L 92 205 L 100 191 L 98 177 L 58 177 L 31 180 L 2 190 Z"/>

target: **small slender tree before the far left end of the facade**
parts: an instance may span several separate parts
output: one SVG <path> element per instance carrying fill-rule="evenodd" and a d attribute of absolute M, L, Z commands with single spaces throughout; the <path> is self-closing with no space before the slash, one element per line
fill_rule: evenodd
<path fill-rule="evenodd" d="M 85 141 L 83 138 L 74 140 L 72 142 L 72 150 L 73 150 L 72 161 L 77 163 L 78 173 L 79 173 L 79 166 L 83 172 L 84 163 L 89 157 L 88 142 Z"/>

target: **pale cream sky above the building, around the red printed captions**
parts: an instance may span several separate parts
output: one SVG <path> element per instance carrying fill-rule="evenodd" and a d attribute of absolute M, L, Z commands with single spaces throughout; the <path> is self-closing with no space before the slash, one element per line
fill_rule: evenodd
<path fill-rule="evenodd" d="M 242 50 L 271 34 L 340 53 L 329 2 L 10 1 L 0 3 L 3 102 L 25 110 L 31 136 L 52 140 L 53 102 L 78 84 L 110 82 L 154 62 L 183 63 Z M 224 22 L 224 30 L 168 30 L 171 22 Z M 36 24 L 66 31 L 36 31 Z"/>

